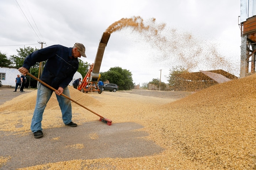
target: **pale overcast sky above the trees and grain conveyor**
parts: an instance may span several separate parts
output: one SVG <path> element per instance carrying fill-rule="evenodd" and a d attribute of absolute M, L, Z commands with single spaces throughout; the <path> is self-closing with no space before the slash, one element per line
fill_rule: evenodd
<path fill-rule="evenodd" d="M 240 0 L 1 0 L 0 51 L 9 57 L 17 55 L 19 48 L 40 49 L 38 42 L 46 43 L 43 48 L 80 42 L 87 55 L 81 59 L 94 63 L 103 32 L 112 23 L 134 16 L 157 30 L 164 24 L 158 35 L 165 42 L 133 27 L 113 32 L 100 72 L 127 69 L 135 84 L 160 79 L 160 73 L 167 83 L 172 67 L 189 64 L 193 72 L 224 69 L 239 76 Z"/>

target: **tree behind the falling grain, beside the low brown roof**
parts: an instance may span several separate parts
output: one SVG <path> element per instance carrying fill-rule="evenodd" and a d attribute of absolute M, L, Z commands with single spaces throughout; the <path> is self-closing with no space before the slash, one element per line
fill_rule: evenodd
<path fill-rule="evenodd" d="M 171 90 L 183 91 L 187 86 L 187 80 L 185 76 L 189 71 L 183 67 L 172 67 L 170 69 L 169 76 L 167 77 Z"/>

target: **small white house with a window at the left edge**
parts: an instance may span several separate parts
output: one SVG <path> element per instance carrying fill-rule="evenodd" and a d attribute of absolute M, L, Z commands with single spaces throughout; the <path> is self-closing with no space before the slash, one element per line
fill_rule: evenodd
<path fill-rule="evenodd" d="M 0 79 L 3 86 L 15 87 L 15 79 L 18 74 L 21 75 L 17 68 L 0 66 Z"/>

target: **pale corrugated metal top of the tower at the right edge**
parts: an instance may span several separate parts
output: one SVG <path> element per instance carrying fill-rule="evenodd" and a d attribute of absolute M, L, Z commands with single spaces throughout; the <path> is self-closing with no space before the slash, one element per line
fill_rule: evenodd
<path fill-rule="evenodd" d="M 240 0 L 240 23 L 256 15 L 256 0 Z"/>

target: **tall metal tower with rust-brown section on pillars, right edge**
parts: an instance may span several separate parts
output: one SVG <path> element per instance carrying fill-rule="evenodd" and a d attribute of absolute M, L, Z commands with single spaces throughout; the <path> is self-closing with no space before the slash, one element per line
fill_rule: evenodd
<path fill-rule="evenodd" d="M 256 0 L 240 0 L 241 64 L 240 78 L 255 73 Z"/>

